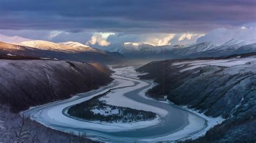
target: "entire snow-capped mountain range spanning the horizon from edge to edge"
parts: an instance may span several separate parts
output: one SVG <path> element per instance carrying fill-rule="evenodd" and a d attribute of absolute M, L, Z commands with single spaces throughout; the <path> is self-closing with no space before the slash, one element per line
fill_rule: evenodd
<path fill-rule="evenodd" d="M 59 60 L 97 61 L 111 64 L 137 62 L 137 60 L 218 57 L 256 52 L 256 39 L 231 39 L 222 45 L 201 42 L 191 45 L 153 46 L 138 42 L 124 42 L 119 46 L 109 48 L 107 51 L 73 41 L 55 43 L 0 35 L 1 40 L 3 42 L 0 42 L 0 54 L 56 58 Z"/>

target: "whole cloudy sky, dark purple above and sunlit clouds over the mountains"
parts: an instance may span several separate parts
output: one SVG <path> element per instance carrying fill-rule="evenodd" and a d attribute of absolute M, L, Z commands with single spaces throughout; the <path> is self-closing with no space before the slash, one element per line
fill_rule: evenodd
<path fill-rule="evenodd" d="M 256 1 L 0 0 L 0 17 L 1 34 L 103 48 L 221 42 L 255 38 Z"/>

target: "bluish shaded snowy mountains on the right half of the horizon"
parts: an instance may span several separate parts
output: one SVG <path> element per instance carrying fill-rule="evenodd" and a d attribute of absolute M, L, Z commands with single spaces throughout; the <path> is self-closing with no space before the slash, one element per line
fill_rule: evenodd
<path fill-rule="evenodd" d="M 203 56 L 226 56 L 231 54 L 256 52 L 256 39 L 231 39 L 223 45 L 212 42 L 201 42 L 193 45 L 153 46 L 143 43 L 126 42 L 110 48 L 111 52 L 119 52 L 127 57 L 136 59 L 173 59 L 198 58 Z"/>

